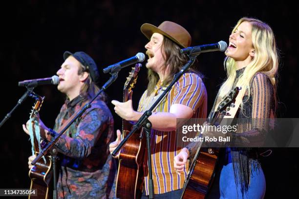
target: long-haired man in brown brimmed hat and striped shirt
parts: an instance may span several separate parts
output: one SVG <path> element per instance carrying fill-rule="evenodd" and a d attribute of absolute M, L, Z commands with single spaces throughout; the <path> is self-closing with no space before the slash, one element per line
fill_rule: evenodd
<path fill-rule="evenodd" d="M 141 26 L 141 32 L 149 39 L 145 45 L 149 56 L 146 64 L 149 79 L 147 90 L 139 101 L 137 111 L 133 110 L 131 100 L 124 103 L 112 101 L 115 113 L 131 121 L 137 121 L 142 116 L 149 104 L 170 84 L 173 75 L 181 70 L 188 58 L 180 53 L 180 48 L 191 44 L 188 31 L 171 21 L 164 21 L 158 27 L 145 23 Z M 182 175 L 173 168 L 173 159 L 180 152 L 180 148 L 176 147 L 176 119 L 206 118 L 206 112 L 205 85 L 198 73 L 190 69 L 174 84 L 149 117 L 152 123 L 150 147 L 155 198 L 180 198 L 187 176 L 188 168 L 184 168 Z M 110 152 L 120 143 L 120 135 L 118 130 L 118 139 L 109 145 Z M 147 165 L 147 160 L 144 163 Z M 148 178 L 147 174 L 142 198 L 149 195 Z"/>

